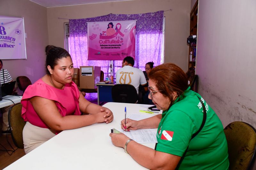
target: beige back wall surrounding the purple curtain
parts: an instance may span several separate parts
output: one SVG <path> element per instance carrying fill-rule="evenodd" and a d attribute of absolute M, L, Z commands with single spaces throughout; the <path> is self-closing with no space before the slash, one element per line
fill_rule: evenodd
<path fill-rule="evenodd" d="M 165 11 L 172 9 L 172 11 Z M 100 4 L 73 5 L 47 8 L 49 43 L 64 47 L 64 22 L 68 19 L 90 18 L 109 13 L 137 14 L 164 10 L 165 58 L 184 71 L 188 70 L 190 1 L 188 0 L 134 0 Z"/>

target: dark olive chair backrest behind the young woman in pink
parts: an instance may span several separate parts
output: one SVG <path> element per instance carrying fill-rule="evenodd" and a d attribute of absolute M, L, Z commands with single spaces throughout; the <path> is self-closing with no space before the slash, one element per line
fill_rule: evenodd
<path fill-rule="evenodd" d="M 21 118 L 21 108 L 21 103 L 12 106 L 8 113 L 8 120 L 13 143 L 17 148 L 24 149 L 22 131 L 26 122 Z"/>

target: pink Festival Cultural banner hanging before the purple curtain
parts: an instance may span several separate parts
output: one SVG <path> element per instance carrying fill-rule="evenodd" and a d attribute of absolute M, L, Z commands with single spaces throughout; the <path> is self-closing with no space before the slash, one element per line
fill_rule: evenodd
<path fill-rule="evenodd" d="M 88 60 L 135 59 L 136 20 L 88 22 Z"/>

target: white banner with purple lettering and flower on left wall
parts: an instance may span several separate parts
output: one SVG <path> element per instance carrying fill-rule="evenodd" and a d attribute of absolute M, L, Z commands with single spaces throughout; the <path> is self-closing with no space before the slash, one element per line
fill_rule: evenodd
<path fill-rule="evenodd" d="M 27 59 L 24 18 L 0 16 L 0 59 Z"/>

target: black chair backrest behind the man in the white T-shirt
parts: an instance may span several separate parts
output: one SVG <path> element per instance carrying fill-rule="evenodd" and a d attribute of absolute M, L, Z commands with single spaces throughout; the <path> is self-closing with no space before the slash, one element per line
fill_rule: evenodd
<path fill-rule="evenodd" d="M 136 103 L 138 100 L 137 90 L 133 85 L 116 84 L 112 87 L 112 99 L 119 103 Z"/>

